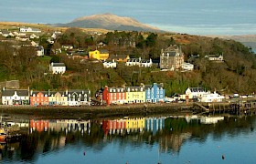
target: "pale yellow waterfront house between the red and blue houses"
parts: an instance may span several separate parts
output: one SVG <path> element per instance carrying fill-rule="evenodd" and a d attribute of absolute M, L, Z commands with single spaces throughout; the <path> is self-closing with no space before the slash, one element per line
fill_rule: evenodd
<path fill-rule="evenodd" d="M 131 103 L 144 103 L 145 92 L 144 87 L 126 87 L 126 102 Z"/>

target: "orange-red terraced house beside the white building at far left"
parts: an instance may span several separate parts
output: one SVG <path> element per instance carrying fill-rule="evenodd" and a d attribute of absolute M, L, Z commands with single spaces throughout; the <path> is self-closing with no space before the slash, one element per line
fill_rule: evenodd
<path fill-rule="evenodd" d="M 48 106 L 48 92 L 31 91 L 30 105 L 31 106 Z"/>

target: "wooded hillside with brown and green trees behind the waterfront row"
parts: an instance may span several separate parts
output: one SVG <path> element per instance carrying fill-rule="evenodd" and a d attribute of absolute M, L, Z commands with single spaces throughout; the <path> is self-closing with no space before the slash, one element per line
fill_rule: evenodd
<path fill-rule="evenodd" d="M 18 25 L 17 25 L 18 24 Z M 0 28 L 24 26 L 19 23 L 0 23 Z M 16 51 L 10 43 L 0 43 L 0 81 L 19 79 L 23 88 L 37 90 L 64 90 L 66 88 L 90 88 L 95 93 L 101 87 L 139 86 L 141 83 L 164 83 L 166 96 L 184 93 L 187 87 L 202 86 L 208 90 L 223 91 L 225 93 L 255 93 L 256 88 L 256 57 L 248 47 L 231 39 L 220 37 L 190 36 L 170 33 L 124 32 L 104 30 L 101 35 L 89 33 L 101 29 L 52 27 L 46 25 L 28 25 L 42 29 L 48 34 L 60 29 L 63 36 L 59 36 L 53 45 L 47 40 L 50 35 L 40 36 L 37 41 L 44 46 L 44 57 L 37 57 L 31 49 L 23 46 Z M 118 38 L 118 42 L 116 42 Z M 15 39 L 15 38 L 10 38 Z M 195 70 L 160 71 L 159 67 L 125 67 L 106 69 L 102 63 L 97 64 L 86 60 L 81 63 L 79 58 L 70 58 L 65 50 L 54 54 L 54 48 L 62 45 L 73 45 L 88 53 L 104 43 L 104 49 L 110 54 L 129 55 L 130 57 L 152 58 L 159 60 L 161 49 L 170 45 L 182 47 L 187 62 L 190 56 L 199 55 L 192 61 Z M 132 45 L 131 45 L 132 43 Z M 206 55 L 222 54 L 225 62 L 212 63 L 206 60 Z M 67 66 L 67 73 L 63 76 L 48 73 L 49 62 L 63 62 Z"/>

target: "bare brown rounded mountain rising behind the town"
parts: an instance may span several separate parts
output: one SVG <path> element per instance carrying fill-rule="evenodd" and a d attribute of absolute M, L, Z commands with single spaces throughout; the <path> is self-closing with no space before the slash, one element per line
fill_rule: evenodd
<path fill-rule="evenodd" d="M 142 24 L 131 17 L 123 17 L 112 14 L 89 15 L 74 19 L 67 24 L 55 26 L 81 27 L 81 28 L 103 28 L 119 31 L 150 31 L 163 32 L 154 26 Z"/>

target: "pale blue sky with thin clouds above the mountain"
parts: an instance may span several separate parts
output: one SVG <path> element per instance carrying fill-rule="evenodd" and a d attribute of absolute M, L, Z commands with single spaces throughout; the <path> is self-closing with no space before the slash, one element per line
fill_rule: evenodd
<path fill-rule="evenodd" d="M 256 0 L 7 0 L 0 22 L 69 23 L 104 13 L 191 35 L 256 34 Z"/>

